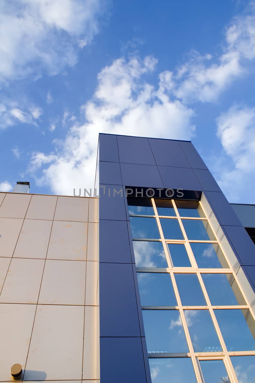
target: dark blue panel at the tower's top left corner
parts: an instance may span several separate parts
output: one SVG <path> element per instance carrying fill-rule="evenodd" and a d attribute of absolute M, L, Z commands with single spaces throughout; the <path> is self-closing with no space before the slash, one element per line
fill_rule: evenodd
<path fill-rule="evenodd" d="M 99 134 L 99 161 L 120 162 L 117 136 Z"/>

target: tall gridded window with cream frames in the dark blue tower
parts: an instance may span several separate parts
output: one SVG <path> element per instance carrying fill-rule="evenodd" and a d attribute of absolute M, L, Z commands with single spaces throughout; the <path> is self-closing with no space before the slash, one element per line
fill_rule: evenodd
<path fill-rule="evenodd" d="M 128 207 L 152 382 L 255 383 L 254 314 L 201 202 Z"/>

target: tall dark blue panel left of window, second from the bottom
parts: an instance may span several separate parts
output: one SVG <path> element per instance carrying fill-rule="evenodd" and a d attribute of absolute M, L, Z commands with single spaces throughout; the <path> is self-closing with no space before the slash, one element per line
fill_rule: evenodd
<path fill-rule="evenodd" d="M 100 263 L 100 336 L 141 336 L 132 264 Z"/>

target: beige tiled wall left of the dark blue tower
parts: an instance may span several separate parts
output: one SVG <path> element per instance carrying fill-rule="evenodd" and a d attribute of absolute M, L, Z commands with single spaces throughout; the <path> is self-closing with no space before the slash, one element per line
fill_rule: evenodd
<path fill-rule="evenodd" d="M 0 193 L 0 382 L 99 383 L 98 199 Z"/>

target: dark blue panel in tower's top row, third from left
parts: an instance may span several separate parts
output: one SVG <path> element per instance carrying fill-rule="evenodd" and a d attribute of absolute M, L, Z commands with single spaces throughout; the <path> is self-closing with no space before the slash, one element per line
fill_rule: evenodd
<path fill-rule="evenodd" d="M 149 138 L 149 144 L 157 165 L 191 167 L 178 141 Z"/>

